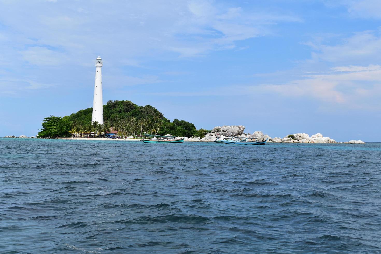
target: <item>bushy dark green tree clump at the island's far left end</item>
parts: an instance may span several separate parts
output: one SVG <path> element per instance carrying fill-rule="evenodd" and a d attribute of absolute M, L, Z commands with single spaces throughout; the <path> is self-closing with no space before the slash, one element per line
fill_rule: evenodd
<path fill-rule="evenodd" d="M 61 117 L 45 117 L 38 137 L 70 137 L 70 125 L 69 121 Z"/>

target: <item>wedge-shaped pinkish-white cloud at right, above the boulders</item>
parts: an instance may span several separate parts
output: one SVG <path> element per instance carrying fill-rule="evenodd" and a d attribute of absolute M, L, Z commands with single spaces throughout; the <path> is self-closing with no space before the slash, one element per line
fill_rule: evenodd
<path fill-rule="evenodd" d="M 333 72 L 303 75 L 285 84 L 249 86 L 251 93 L 279 94 L 295 99 L 317 99 L 348 108 L 380 110 L 381 66 L 340 66 Z"/>

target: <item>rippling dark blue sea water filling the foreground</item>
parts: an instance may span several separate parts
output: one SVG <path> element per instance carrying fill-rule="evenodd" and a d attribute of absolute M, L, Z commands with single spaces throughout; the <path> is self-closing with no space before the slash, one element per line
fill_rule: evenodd
<path fill-rule="evenodd" d="M 381 252 L 381 143 L 0 151 L 1 253 Z"/>

